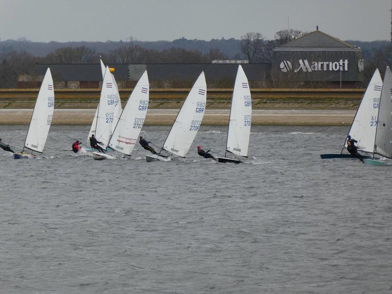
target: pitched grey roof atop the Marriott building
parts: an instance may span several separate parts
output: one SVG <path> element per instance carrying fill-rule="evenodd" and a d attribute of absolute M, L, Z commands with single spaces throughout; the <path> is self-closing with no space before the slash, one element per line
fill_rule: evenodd
<path fill-rule="evenodd" d="M 316 30 L 298 39 L 283 44 L 276 49 L 358 49 L 357 47 Z"/>

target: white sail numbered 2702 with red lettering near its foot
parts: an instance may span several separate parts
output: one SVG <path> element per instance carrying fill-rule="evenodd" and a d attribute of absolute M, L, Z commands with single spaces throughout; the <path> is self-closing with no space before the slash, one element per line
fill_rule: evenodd
<path fill-rule="evenodd" d="M 135 147 L 147 114 L 149 83 L 145 71 L 133 89 L 115 125 L 109 146 L 126 155 Z"/>

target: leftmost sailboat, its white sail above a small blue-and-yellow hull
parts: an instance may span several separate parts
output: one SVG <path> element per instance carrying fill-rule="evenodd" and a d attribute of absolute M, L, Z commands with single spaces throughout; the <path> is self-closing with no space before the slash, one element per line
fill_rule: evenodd
<path fill-rule="evenodd" d="M 54 110 L 53 79 L 50 69 L 45 73 L 40 91 L 35 101 L 33 114 L 28 127 L 25 145 L 22 152 L 15 152 L 14 158 L 35 158 L 33 153 L 25 152 L 25 149 L 42 153 L 48 137 L 50 124 Z"/>

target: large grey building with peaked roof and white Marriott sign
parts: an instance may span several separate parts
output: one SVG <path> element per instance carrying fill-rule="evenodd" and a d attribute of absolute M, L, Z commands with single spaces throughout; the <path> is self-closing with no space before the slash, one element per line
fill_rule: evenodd
<path fill-rule="evenodd" d="M 275 86 L 357 88 L 364 80 L 361 49 L 316 30 L 273 49 Z"/>

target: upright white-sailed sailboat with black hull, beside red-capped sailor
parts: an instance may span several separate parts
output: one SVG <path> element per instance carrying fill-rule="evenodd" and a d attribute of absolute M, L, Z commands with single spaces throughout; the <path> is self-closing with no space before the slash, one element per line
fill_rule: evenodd
<path fill-rule="evenodd" d="M 217 157 L 219 163 L 244 162 L 239 159 L 226 157 L 227 152 L 247 158 L 251 116 L 252 101 L 249 83 L 242 66 L 239 65 L 231 99 L 226 151 L 224 157 Z"/>

